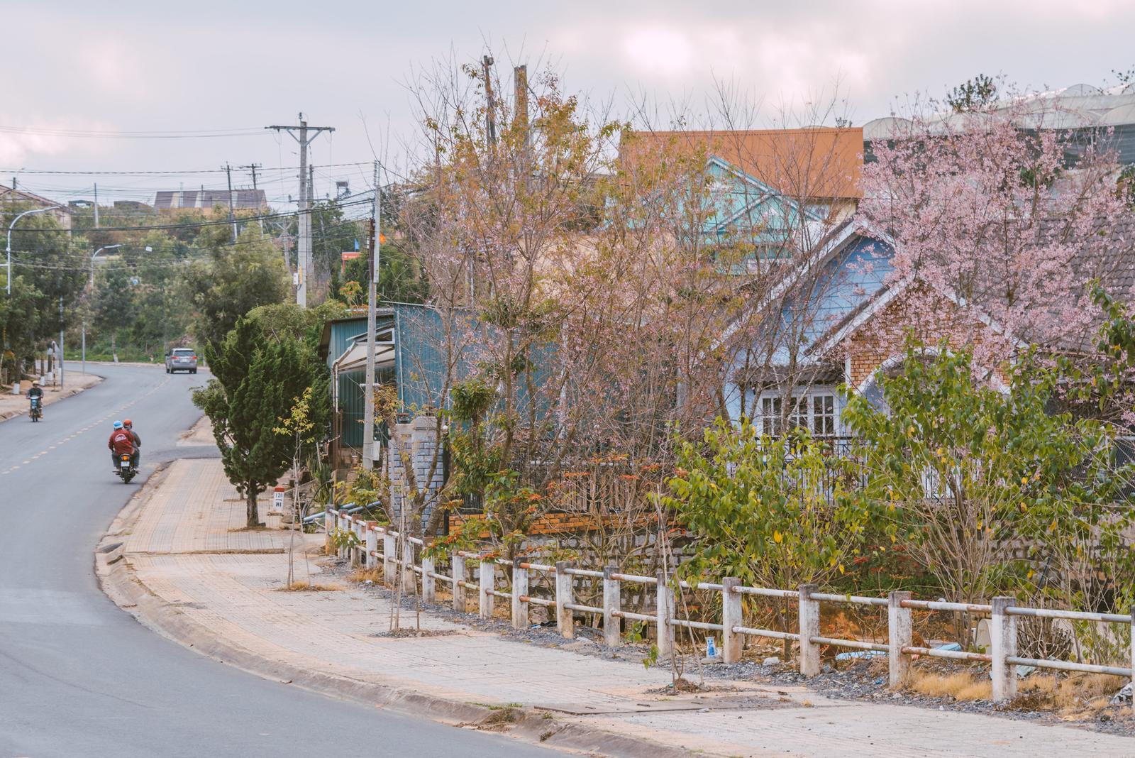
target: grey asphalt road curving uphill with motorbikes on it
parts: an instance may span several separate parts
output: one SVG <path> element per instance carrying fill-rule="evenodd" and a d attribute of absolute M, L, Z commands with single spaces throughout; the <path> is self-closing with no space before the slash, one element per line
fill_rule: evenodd
<path fill-rule="evenodd" d="M 259 679 L 116 607 L 95 583 L 94 545 L 158 461 L 216 450 L 175 444 L 204 376 L 98 372 L 107 380 L 42 423 L 0 423 L 0 758 L 554 755 Z M 142 479 L 128 486 L 106 443 L 124 415 L 143 443 Z"/>

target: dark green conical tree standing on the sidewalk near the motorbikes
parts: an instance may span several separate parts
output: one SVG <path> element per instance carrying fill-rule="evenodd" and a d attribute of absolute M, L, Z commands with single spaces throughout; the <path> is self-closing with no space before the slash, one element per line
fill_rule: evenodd
<path fill-rule="evenodd" d="M 297 398 L 308 397 L 305 423 L 317 429 L 326 423 L 326 367 L 301 340 L 291 335 L 268 339 L 245 318 L 219 345 L 207 343 L 204 352 L 213 378 L 193 402 L 213 423 L 225 473 L 244 496 L 253 528 L 257 495 L 279 480 L 295 454 L 293 440 L 276 431 L 280 419 Z"/>

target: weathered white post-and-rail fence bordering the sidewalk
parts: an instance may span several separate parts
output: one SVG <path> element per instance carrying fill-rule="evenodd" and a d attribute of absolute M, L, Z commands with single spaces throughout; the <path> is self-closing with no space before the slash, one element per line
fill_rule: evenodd
<path fill-rule="evenodd" d="M 993 677 L 993 700 L 1011 700 L 1017 692 L 1017 666 L 1035 666 L 1058 671 L 1085 672 L 1133 676 L 1135 671 L 1135 621 L 1132 614 L 1087 613 L 1059 608 L 1027 608 L 1015 605 L 1011 597 L 995 597 L 989 605 L 947 603 L 943 600 L 915 600 L 910 592 L 890 592 L 888 597 L 865 597 L 858 595 L 835 595 L 819 592 L 814 584 L 801 584 L 797 589 L 746 587 L 740 580 L 728 576 L 721 582 L 673 581 L 665 575 L 645 576 L 622 573 L 617 566 L 606 566 L 602 571 L 572 566 L 566 562 L 555 565 L 532 563 L 524 559 L 503 561 L 488 555 L 455 551 L 449 556 L 451 573 L 437 572 L 435 558 L 427 555 L 427 545 L 419 538 L 403 536 L 389 527 L 373 521 L 364 521 L 348 511 L 327 508 L 323 513 L 327 531 L 327 550 L 337 547 L 340 557 L 351 558 L 365 567 L 382 568 L 382 582 L 388 587 L 401 587 L 406 592 L 421 591 L 426 603 L 436 603 L 435 582 L 440 580 L 453 590 L 453 608 L 466 610 L 468 592 L 476 592 L 478 614 L 484 618 L 494 615 L 496 598 L 511 604 L 512 625 L 523 629 L 529 624 L 530 605 L 555 608 L 556 626 L 561 634 L 575 634 L 574 613 L 589 613 L 603 617 L 603 635 L 606 645 L 617 647 L 623 643 L 622 620 L 641 622 L 655 628 L 655 639 L 659 657 L 669 656 L 674 645 L 675 629 L 696 629 L 722 634 L 722 658 L 725 663 L 737 663 L 741 658 L 745 637 L 762 637 L 799 642 L 798 664 L 805 676 L 815 676 L 821 671 L 819 654 L 823 646 L 844 647 L 858 650 L 884 652 L 889 662 L 889 682 L 892 689 L 901 687 L 910 673 L 911 660 L 917 656 L 976 660 L 991 664 Z M 342 536 L 353 537 L 342 537 Z M 336 537 L 338 536 L 338 538 Z M 381 549 L 379 549 L 381 539 Z M 477 581 L 469 581 L 469 563 L 477 565 Z M 497 567 L 511 567 L 511 586 L 497 587 Z M 529 590 L 529 572 L 540 572 L 554 581 L 552 597 L 536 597 Z M 577 578 L 599 579 L 603 586 L 603 606 L 575 603 L 574 581 Z M 655 613 L 634 613 L 622 609 L 623 584 L 654 587 Z M 503 586 L 502 586 L 503 587 Z M 680 618 L 674 614 L 674 593 L 681 590 L 701 590 L 721 595 L 721 623 Z M 797 632 L 756 629 L 745 625 L 742 599 L 745 597 L 792 599 L 798 605 L 799 630 Z M 886 641 L 850 640 L 823 637 L 819 633 L 821 603 L 859 605 L 886 608 Z M 990 617 L 990 649 L 985 652 L 948 650 L 916 647 L 913 641 L 913 612 L 951 612 Z M 1078 663 L 1069 660 L 1041 660 L 1017 655 L 1017 618 L 1063 618 L 1099 624 L 1124 624 L 1130 628 L 1132 643 L 1127 666 Z M 1135 711 L 1135 702 L 1132 705 Z"/>

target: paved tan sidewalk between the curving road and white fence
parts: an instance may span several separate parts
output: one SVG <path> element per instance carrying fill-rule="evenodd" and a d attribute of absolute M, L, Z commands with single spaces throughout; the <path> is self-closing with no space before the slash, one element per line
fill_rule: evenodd
<path fill-rule="evenodd" d="M 648 694 L 670 683 L 669 672 L 645 671 L 631 656 L 524 645 L 426 613 L 422 628 L 434 637 L 375 637 L 389 629 L 388 600 L 351 588 L 279 591 L 289 532 L 243 523 L 244 503 L 219 461 L 178 461 L 104 539 L 103 587 L 144 623 L 261 675 L 452 723 L 512 718 L 486 706 L 520 704 L 514 733 L 599 755 L 1135 756 L 1126 738 L 830 700 L 806 688 L 739 682 L 708 694 Z M 313 583 L 334 583 L 318 564 L 322 534 L 304 541 L 296 579 L 310 572 Z M 413 613 L 402 610 L 402 620 L 412 625 Z"/>

